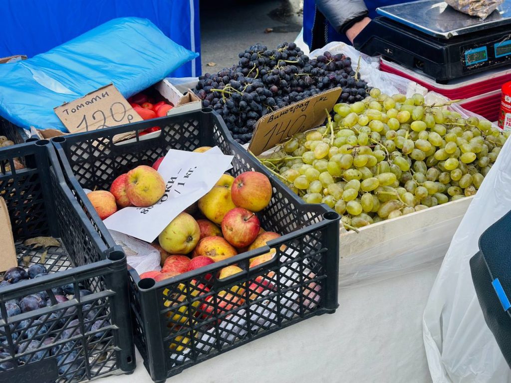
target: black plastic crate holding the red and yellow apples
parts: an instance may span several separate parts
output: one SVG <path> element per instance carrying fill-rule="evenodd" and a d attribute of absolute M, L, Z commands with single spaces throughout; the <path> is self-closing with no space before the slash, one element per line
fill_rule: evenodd
<path fill-rule="evenodd" d="M 124 145 L 112 142 L 117 134 L 153 126 L 161 128 L 158 137 L 137 135 L 135 142 Z M 136 165 L 151 165 L 169 149 L 201 146 L 219 146 L 234 155 L 233 175 L 255 170 L 270 178 L 273 197 L 258 217 L 264 229 L 282 236 L 269 247 L 160 282 L 141 280 L 130 270 L 135 344 L 153 380 L 165 380 L 219 353 L 338 307 L 338 214 L 326 205 L 301 201 L 230 138 L 211 109 L 57 137 L 53 142 L 69 180 L 78 180 L 87 189 L 108 189 L 118 175 Z M 107 245 L 113 246 L 107 229 L 92 216 Z M 248 259 L 269 252 L 270 247 L 277 256 L 248 269 Z M 236 264 L 244 269 L 242 273 L 217 279 L 220 269 Z"/>

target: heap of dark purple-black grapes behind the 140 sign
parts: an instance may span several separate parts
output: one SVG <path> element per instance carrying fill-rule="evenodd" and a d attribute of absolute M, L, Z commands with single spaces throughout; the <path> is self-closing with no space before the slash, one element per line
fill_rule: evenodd
<path fill-rule="evenodd" d="M 310 60 L 295 43 L 284 42 L 273 50 L 255 44 L 239 57 L 231 68 L 200 76 L 194 91 L 204 107 L 222 116 L 240 143 L 250 141 L 255 123 L 265 114 L 324 90 L 342 87 L 339 102 L 344 103 L 367 96 L 367 83 L 356 76 L 351 59 L 342 54 L 324 52 Z"/>

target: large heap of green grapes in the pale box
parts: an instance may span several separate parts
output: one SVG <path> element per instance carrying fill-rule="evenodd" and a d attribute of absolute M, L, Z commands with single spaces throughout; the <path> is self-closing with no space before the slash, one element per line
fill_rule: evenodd
<path fill-rule="evenodd" d="M 346 229 L 473 196 L 508 132 L 451 104 L 373 88 L 260 160 L 307 203 L 335 209 Z"/>

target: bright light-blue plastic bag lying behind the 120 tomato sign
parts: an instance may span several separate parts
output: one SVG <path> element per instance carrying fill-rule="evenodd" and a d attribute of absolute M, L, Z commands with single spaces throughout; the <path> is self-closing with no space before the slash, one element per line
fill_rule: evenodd
<path fill-rule="evenodd" d="M 147 19 L 114 19 L 46 53 L 0 65 L 0 115 L 22 128 L 66 132 L 55 107 L 110 83 L 128 98 L 197 56 Z"/>

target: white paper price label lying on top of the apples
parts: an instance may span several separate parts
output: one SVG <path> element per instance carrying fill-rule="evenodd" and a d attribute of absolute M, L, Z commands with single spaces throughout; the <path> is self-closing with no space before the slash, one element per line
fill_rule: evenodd
<path fill-rule="evenodd" d="M 169 150 L 158 167 L 158 173 L 167 183 L 163 197 L 149 207 L 125 207 L 105 219 L 105 226 L 153 242 L 180 212 L 213 188 L 231 168 L 233 158 L 224 155 L 218 147 L 205 153 Z"/>

